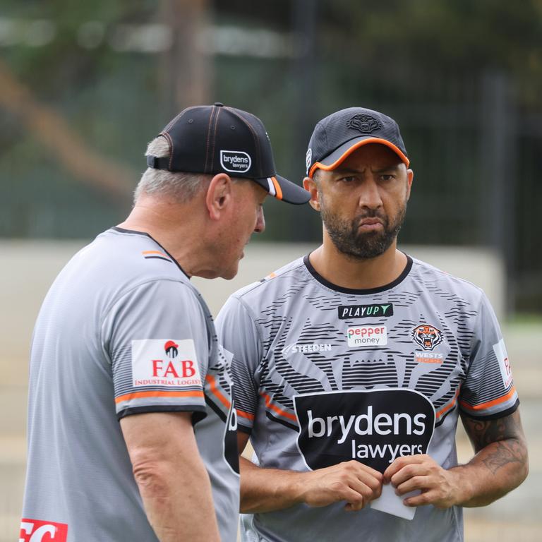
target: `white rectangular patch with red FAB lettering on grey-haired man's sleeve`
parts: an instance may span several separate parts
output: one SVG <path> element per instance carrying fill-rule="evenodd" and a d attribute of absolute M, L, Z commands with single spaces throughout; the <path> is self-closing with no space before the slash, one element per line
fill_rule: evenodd
<path fill-rule="evenodd" d="M 133 340 L 132 378 L 133 387 L 200 386 L 200 368 L 193 340 Z"/>

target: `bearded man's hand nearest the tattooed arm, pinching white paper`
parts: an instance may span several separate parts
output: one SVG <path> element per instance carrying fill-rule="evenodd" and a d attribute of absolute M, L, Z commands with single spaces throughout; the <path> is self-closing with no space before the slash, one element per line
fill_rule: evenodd
<path fill-rule="evenodd" d="M 407 506 L 433 505 L 449 508 L 461 499 L 459 476 L 453 470 L 442 469 L 427 454 L 398 457 L 384 471 L 384 483 L 392 483 L 397 495 L 420 490 L 419 495 L 404 500 Z"/>

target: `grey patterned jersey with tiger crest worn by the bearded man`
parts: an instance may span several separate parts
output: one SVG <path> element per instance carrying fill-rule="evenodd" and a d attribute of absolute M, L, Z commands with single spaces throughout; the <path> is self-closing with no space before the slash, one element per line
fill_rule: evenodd
<path fill-rule="evenodd" d="M 517 409 L 486 296 L 411 258 L 395 282 L 372 290 L 336 287 L 300 258 L 232 295 L 217 330 L 234 354 L 239 428 L 263 467 L 356 459 L 383 471 L 395 457 L 427 452 L 449 468 L 459 411 L 490 419 Z M 463 539 L 457 507 L 418 507 L 412 521 L 343 507 L 243 516 L 243 539 Z"/>

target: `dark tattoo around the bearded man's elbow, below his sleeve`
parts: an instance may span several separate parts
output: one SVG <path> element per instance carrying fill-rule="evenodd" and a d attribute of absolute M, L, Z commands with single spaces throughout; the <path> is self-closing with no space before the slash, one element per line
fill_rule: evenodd
<path fill-rule="evenodd" d="M 495 474 L 510 463 L 525 464 L 527 459 L 525 438 L 519 411 L 496 420 L 474 420 L 462 415 L 463 425 L 476 453 L 490 447 L 481 460 Z"/>

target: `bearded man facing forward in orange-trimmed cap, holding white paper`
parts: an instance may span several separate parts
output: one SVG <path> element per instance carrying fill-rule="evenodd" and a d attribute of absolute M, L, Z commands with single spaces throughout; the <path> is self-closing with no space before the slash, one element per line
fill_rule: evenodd
<path fill-rule="evenodd" d="M 483 292 L 397 249 L 413 172 L 370 109 L 320 121 L 305 187 L 315 251 L 231 296 L 243 540 L 463 539 L 463 506 L 526 476 L 510 363 Z M 458 465 L 459 415 L 476 455 Z"/>

